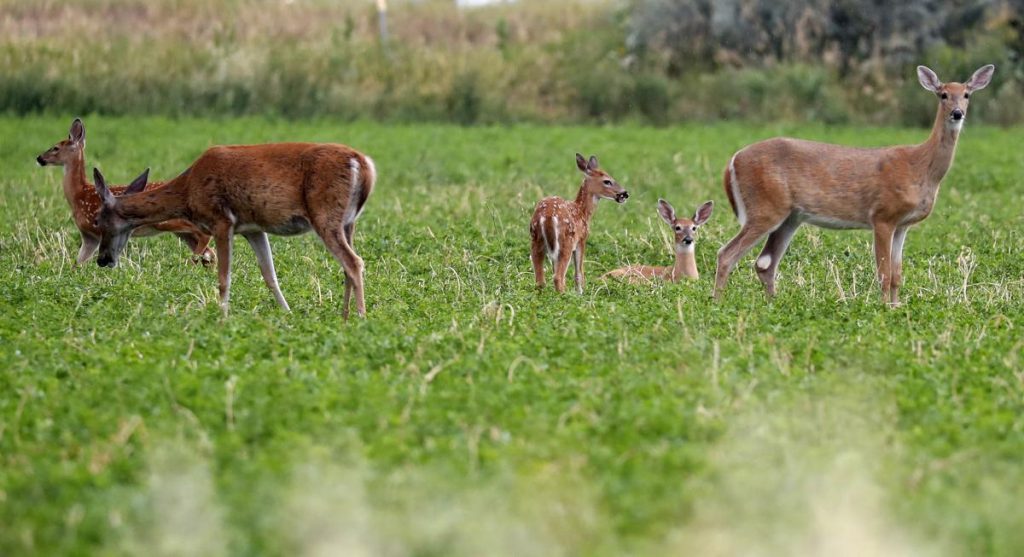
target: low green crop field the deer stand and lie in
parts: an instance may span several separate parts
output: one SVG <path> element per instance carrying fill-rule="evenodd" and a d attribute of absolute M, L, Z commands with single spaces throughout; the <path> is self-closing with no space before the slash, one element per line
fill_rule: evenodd
<path fill-rule="evenodd" d="M 721 171 L 779 133 L 926 130 L 85 119 L 118 183 L 217 143 L 373 156 L 346 324 L 311 234 L 271 239 L 287 314 L 244 242 L 226 317 L 173 237 L 73 267 L 60 171 L 34 161 L 70 121 L 0 118 L 0 555 L 1024 551 L 1020 130 L 968 126 L 893 309 L 869 232 L 811 227 L 774 301 L 751 254 L 712 303 L 738 228 Z M 631 198 L 598 208 L 585 294 L 539 294 L 529 214 L 574 194 L 577 151 Z M 669 264 L 658 197 L 715 201 L 700 281 L 603 284 Z"/>

